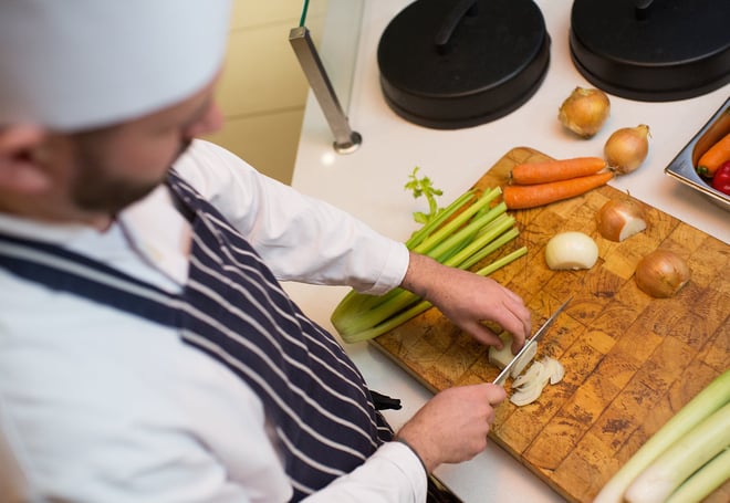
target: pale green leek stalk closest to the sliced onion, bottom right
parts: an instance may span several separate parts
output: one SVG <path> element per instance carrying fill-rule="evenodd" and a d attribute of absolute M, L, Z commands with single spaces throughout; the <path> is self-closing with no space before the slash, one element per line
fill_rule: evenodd
<path fill-rule="evenodd" d="M 715 378 L 705 389 L 669 419 L 601 490 L 594 503 L 619 503 L 634 480 L 672 443 L 681 439 L 705 418 L 730 401 L 730 370 Z M 727 427 L 727 425 L 726 425 Z M 680 481 L 681 482 L 681 481 Z"/>

